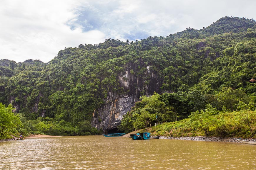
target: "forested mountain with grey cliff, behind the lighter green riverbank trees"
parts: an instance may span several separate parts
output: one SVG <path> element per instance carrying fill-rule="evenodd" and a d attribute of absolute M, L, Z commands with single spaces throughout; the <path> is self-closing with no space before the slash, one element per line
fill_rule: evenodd
<path fill-rule="evenodd" d="M 46 64 L 0 60 L 0 102 L 29 120 L 49 117 L 83 132 L 92 132 L 91 125 L 116 128 L 140 97 L 154 92 L 169 98 L 162 100 L 170 106 L 163 121 L 186 118 L 207 103 L 235 110 L 239 101 L 256 102 L 256 83 L 249 83 L 256 78 L 255 37 L 254 20 L 225 17 L 167 37 L 68 47 Z"/>

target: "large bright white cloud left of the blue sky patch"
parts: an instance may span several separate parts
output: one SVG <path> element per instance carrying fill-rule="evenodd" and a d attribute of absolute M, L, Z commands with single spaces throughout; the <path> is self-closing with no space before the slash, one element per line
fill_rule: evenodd
<path fill-rule="evenodd" d="M 59 50 L 105 40 L 99 30 L 83 32 L 74 10 L 78 1 L 4 1 L 0 7 L 0 59 L 48 62 Z"/>

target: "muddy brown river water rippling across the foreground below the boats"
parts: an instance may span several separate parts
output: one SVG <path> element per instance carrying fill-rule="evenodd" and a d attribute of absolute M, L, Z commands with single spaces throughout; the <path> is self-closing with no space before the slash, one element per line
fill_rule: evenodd
<path fill-rule="evenodd" d="M 0 142 L 0 169 L 256 169 L 256 145 L 69 136 Z"/>

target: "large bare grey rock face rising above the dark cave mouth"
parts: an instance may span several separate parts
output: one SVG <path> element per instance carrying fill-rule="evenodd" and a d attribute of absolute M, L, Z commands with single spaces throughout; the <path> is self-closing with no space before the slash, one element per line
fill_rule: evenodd
<path fill-rule="evenodd" d="M 140 77 L 127 70 L 125 74 L 118 77 L 120 87 L 124 88 L 124 93 L 110 91 L 107 100 L 102 108 L 94 111 L 92 126 L 107 132 L 121 124 L 125 115 L 139 101 L 143 95 L 152 95 L 154 91 L 160 92 L 162 80 L 150 72 L 150 66 Z"/>

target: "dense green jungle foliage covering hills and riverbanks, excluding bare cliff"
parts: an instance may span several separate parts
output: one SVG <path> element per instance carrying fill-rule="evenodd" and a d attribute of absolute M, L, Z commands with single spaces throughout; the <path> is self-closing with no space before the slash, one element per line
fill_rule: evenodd
<path fill-rule="evenodd" d="M 8 127 L 1 119 L 0 132 L 100 134 L 101 129 L 91 126 L 92 113 L 104 105 L 110 91 L 133 93 L 118 79 L 128 71 L 143 79 L 142 98 L 124 116 L 120 129 L 154 125 L 157 115 L 158 122 L 180 120 L 157 130 L 163 135 L 254 136 L 256 83 L 249 80 L 256 79 L 255 23 L 224 17 L 207 28 L 187 28 L 167 37 L 80 44 L 59 51 L 48 63 L 0 60 L 0 102 L 11 103 L 7 108 L 16 112 L 12 119 L 18 116 L 21 121 Z M 161 85 L 151 97 L 144 96 L 144 87 L 152 83 L 144 76 L 147 68 Z"/>

